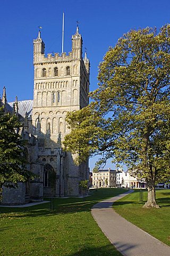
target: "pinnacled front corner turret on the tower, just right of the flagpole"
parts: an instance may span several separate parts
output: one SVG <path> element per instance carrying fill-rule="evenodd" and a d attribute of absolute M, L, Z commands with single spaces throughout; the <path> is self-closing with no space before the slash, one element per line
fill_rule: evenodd
<path fill-rule="evenodd" d="M 82 37 L 79 34 L 79 27 L 77 26 L 76 33 L 72 36 L 73 59 L 82 59 L 82 45 Z"/>

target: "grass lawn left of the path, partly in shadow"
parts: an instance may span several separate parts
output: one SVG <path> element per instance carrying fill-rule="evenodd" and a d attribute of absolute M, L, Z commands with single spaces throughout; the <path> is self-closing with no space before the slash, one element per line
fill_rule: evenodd
<path fill-rule="evenodd" d="M 93 190 L 84 202 L 82 198 L 56 198 L 54 211 L 49 210 L 49 203 L 0 207 L 0 255 L 122 255 L 101 232 L 90 209 L 98 201 L 124 191 Z"/>

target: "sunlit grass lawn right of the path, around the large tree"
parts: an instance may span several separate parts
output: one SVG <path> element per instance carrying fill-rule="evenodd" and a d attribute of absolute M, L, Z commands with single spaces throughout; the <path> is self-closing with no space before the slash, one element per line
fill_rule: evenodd
<path fill-rule="evenodd" d="M 147 191 L 143 192 L 143 200 L 147 201 Z M 144 209 L 145 202 L 139 202 L 139 190 L 135 190 L 113 207 L 123 218 L 170 246 L 170 190 L 156 190 L 156 200 L 159 209 Z"/>

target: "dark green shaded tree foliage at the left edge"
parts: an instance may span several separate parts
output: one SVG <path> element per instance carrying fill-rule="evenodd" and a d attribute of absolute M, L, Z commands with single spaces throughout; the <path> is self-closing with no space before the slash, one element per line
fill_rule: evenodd
<path fill-rule="evenodd" d="M 33 177 L 23 157 L 25 142 L 17 132 L 20 126 L 15 115 L 6 114 L 0 108 L 0 187 L 16 187 L 18 181 Z"/>

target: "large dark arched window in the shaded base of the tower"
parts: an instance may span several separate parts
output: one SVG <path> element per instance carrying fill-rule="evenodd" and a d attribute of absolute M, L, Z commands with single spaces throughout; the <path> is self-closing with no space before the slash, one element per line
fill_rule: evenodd
<path fill-rule="evenodd" d="M 53 187 L 55 183 L 55 172 L 50 164 L 44 166 L 44 187 Z"/>

